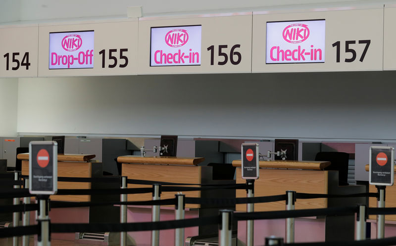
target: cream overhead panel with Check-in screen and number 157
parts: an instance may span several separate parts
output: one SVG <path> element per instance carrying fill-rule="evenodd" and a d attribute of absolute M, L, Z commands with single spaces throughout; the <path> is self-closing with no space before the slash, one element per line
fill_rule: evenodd
<path fill-rule="evenodd" d="M 255 12 L 252 72 L 382 70 L 383 20 L 380 7 Z"/>

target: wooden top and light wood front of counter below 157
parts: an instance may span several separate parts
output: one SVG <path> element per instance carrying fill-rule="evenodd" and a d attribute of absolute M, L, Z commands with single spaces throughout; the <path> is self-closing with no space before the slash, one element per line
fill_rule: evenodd
<path fill-rule="evenodd" d="M 237 167 L 237 183 L 246 182 L 242 179 L 241 160 L 235 160 L 233 165 Z M 332 180 L 331 177 L 329 179 L 329 172 L 334 171 L 324 171 L 324 168 L 329 165 L 329 162 L 260 161 L 259 178 L 254 182 L 254 196 L 281 195 L 288 190 L 299 193 L 328 194 L 329 182 L 337 181 L 338 186 L 338 175 L 337 180 Z M 246 197 L 246 191 L 238 190 L 237 197 Z M 326 198 L 304 199 L 296 203 L 296 209 L 324 207 L 327 207 Z M 254 205 L 254 211 L 282 209 L 285 209 L 284 201 Z M 246 205 L 237 205 L 237 211 L 246 211 Z"/>

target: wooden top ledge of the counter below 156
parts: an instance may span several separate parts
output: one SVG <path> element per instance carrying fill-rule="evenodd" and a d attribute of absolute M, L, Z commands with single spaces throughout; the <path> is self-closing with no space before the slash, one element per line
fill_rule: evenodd
<path fill-rule="evenodd" d="M 197 165 L 203 162 L 203 158 L 186 158 L 186 157 L 168 157 L 168 156 L 120 156 L 117 158 L 119 163 L 134 164 L 173 164 L 173 165 Z"/>

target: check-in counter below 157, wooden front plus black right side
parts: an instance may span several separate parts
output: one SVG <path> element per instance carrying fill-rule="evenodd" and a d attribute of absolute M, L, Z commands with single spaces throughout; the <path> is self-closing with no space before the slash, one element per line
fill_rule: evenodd
<path fill-rule="evenodd" d="M 233 165 L 237 167 L 237 183 L 246 182 L 242 179 L 241 160 Z M 324 170 L 330 162 L 298 162 L 298 161 L 259 161 L 259 179 L 254 182 L 254 196 L 274 196 L 286 194 L 286 191 L 311 194 L 347 195 L 364 193 L 365 186 L 339 186 L 338 171 Z M 246 191 L 238 190 L 237 197 L 246 197 Z M 297 199 L 296 209 L 326 208 L 364 204 L 364 198 L 332 198 L 332 199 Z M 254 211 L 284 210 L 285 201 L 260 203 L 254 205 Z M 246 211 L 246 205 L 237 205 L 237 211 Z M 353 240 L 355 215 L 326 216 L 326 241 Z M 317 223 L 320 218 L 311 218 Z M 319 224 L 318 224 L 319 225 Z M 320 226 L 322 227 L 322 226 Z"/>

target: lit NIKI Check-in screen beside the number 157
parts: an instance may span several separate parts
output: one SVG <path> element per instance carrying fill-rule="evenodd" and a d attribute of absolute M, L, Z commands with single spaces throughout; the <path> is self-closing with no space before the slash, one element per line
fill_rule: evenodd
<path fill-rule="evenodd" d="M 266 63 L 323 63 L 325 34 L 325 20 L 267 22 Z"/>

